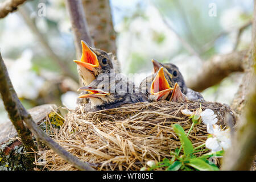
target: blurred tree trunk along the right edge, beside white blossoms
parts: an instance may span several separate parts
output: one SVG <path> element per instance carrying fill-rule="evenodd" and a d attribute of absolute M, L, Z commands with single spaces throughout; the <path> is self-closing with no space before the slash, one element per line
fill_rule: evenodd
<path fill-rule="evenodd" d="M 256 1 L 254 0 L 254 20 L 251 40 L 252 81 L 249 79 L 249 97 L 246 96 L 246 107 L 238 123 L 237 133 L 232 146 L 226 151 L 222 170 L 250 170 L 251 162 L 256 155 Z M 253 69 L 254 68 L 254 69 Z"/>

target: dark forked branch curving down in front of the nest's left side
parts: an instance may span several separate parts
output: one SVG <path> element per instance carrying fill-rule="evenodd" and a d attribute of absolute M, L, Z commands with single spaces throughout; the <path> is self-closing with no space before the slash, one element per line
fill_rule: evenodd
<path fill-rule="evenodd" d="M 31 133 L 35 135 L 36 139 L 40 142 L 46 144 L 49 148 L 55 151 L 68 163 L 81 170 L 94 170 L 86 162 L 81 162 L 78 158 L 65 151 L 59 144 L 57 144 L 53 139 L 51 139 L 43 130 L 40 129 L 38 125 L 33 121 L 31 115 L 24 109 L 23 105 L 19 101 L 19 98 L 13 88 L 9 74 L 7 72 L 5 63 L 0 53 L 0 92 L 3 98 L 3 103 L 5 104 L 5 109 L 9 113 L 9 117 L 15 126 L 15 129 L 18 131 L 19 137 L 22 138 L 22 142 L 26 148 L 34 148 L 36 146 L 31 138 Z M 26 123 L 27 128 L 23 125 L 23 122 Z"/>

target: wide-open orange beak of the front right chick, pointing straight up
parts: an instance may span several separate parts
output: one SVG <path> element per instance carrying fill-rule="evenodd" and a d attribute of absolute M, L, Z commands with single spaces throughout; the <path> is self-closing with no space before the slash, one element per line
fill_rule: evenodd
<path fill-rule="evenodd" d="M 156 101 L 165 100 L 173 88 L 168 84 L 164 76 L 163 67 L 161 67 L 152 81 L 150 94 L 156 96 Z"/>

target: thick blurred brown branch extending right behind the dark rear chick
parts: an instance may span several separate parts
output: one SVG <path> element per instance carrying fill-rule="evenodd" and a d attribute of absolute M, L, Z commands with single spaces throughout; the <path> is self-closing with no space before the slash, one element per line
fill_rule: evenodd
<path fill-rule="evenodd" d="M 232 72 L 243 71 L 243 60 L 247 51 L 213 56 L 205 61 L 196 76 L 187 81 L 188 88 L 201 92 L 223 80 Z"/>

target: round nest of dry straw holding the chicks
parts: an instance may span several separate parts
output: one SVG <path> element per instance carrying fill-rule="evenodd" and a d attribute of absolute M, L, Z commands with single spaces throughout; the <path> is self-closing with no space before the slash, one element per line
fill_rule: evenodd
<path fill-rule="evenodd" d="M 97 170 L 139 170 L 148 160 L 171 158 L 170 152 L 181 145 L 171 125 L 179 123 L 187 133 L 192 122 L 181 109 L 194 111 L 199 107 L 199 102 L 160 101 L 84 113 L 84 106 L 80 106 L 69 110 L 63 126 L 52 138 Z M 225 114 L 231 111 L 228 106 L 203 102 L 201 108 L 212 109 L 217 114 L 217 124 L 225 127 Z M 195 125 L 189 134 L 194 147 L 205 143 L 207 137 L 204 123 Z M 46 150 L 44 158 L 44 167 L 49 170 L 76 170 L 52 150 Z"/>

